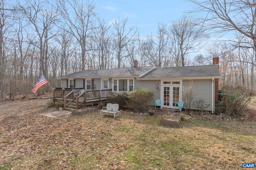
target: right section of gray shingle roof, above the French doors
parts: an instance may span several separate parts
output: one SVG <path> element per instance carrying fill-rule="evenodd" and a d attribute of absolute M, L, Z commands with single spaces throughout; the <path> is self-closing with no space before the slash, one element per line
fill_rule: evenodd
<path fill-rule="evenodd" d="M 155 68 L 140 78 L 220 77 L 218 65 Z"/>

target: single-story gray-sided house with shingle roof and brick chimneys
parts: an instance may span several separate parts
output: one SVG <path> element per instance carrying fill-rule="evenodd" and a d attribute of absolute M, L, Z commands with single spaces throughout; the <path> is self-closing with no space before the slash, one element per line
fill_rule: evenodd
<path fill-rule="evenodd" d="M 182 100 L 182 90 L 193 81 L 194 100 L 203 99 L 214 112 L 218 102 L 219 58 L 213 58 L 212 65 L 156 68 L 138 66 L 104 70 L 81 70 L 59 78 L 62 88 L 83 88 L 85 90 L 112 89 L 112 92 L 130 92 L 136 88 L 154 90 L 154 99 L 162 100 L 161 108 L 174 108 Z M 195 108 L 192 108 L 195 109 Z"/>

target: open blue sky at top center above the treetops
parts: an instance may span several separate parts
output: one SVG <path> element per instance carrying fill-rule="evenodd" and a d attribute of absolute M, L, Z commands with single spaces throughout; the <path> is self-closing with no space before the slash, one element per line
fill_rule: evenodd
<path fill-rule="evenodd" d="M 156 35 L 158 22 L 178 20 L 192 4 L 181 0 L 95 0 L 100 18 L 110 22 L 128 16 L 127 26 L 137 25 L 141 36 Z"/>

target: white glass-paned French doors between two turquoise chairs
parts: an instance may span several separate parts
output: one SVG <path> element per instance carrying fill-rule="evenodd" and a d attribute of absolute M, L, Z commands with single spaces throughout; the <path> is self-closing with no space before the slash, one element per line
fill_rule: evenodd
<path fill-rule="evenodd" d="M 163 88 L 163 107 L 174 108 L 174 106 L 179 102 L 180 87 L 164 86 Z"/>

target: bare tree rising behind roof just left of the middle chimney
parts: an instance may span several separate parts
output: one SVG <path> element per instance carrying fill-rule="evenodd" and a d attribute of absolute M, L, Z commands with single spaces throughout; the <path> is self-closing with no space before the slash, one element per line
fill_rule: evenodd
<path fill-rule="evenodd" d="M 117 59 L 117 67 L 120 68 L 122 60 L 130 54 L 127 54 L 125 51 L 125 47 L 132 45 L 134 41 L 137 39 L 137 27 L 133 26 L 130 28 L 126 28 L 128 18 L 120 20 L 114 20 L 112 22 L 114 29 L 116 31 L 116 38 L 114 44 L 116 45 L 116 59 Z M 128 31 L 126 31 L 127 29 Z"/>

